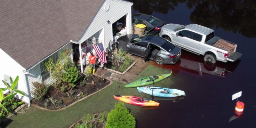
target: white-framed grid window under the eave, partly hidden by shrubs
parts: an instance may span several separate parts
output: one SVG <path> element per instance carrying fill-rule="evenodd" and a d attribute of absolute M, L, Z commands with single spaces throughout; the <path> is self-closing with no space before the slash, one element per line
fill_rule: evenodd
<path fill-rule="evenodd" d="M 55 52 L 49 58 L 52 58 L 53 63 L 56 63 L 56 61 L 59 59 L 58 52 Z M 45 62 L 48 62 L 49 58 L 45 59 L 43 62 L 40 63 L 42 81 L 51 77 L 51 73 L 50 71 L 47 71 L 47 68 L 45 65 Z"/>

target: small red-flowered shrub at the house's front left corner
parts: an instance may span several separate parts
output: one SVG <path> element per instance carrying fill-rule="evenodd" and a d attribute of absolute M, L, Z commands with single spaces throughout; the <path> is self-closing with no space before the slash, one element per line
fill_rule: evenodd
<path fill-rule="evenodd" d="M 32 92 L 32 94 L 36 96 L 35 99 L 44 100 L 44 96 L 48 91 L 48 87 L 44 84 L 44 82 L 42 84 L 33 82 L 33 85 L 35 86 L 35 91 Z"/>

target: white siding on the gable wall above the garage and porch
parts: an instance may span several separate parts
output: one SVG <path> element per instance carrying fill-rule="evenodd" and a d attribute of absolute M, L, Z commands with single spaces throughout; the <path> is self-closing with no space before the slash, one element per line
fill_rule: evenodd
<path fill-rule="evenodd" d="M 109 4 L 109 10 L 105 11 L 105 4 Z M 131 33 L 131 6 L 132 3 L 124 2 L 119 0 L 105 0 L 103 4 L 100 6 L 100 9 L 96 13 L 94 19 L 92 20 L 91 24 L 89 24 L 87 30 L 85 31 L 84 35 L 79 40 L 79 43 L 83 43 L 86 39 L 91 37 L 96 32 L 100 31 L 103 28 L 104 30 L 104 47 L 105 49 L 108 47 L 109 41 L 113 39 L 112 36 L 112 24 L 128 14 L 129 22 L 126 22 L 127 34 Z M 107 21 L 110 21 L 108 23 Z M 126 20 L 127 21 L 127 20 Z"/>

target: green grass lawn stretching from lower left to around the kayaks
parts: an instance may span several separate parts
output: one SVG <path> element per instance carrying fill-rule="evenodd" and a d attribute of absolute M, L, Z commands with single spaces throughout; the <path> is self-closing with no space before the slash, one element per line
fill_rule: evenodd
<path fill-rule="evenodd" d="M 159 74 L 166 74 L 170 71 L 149 65 L 145 68 L 134 80 Z M 173 84 L 173 78 L 168 77 L 163 81 L 157 83 L 157 86 L 165 87 Z M 15 127 L 28 127 L 28 128 L 65 128 L 83 117 L 84 114 L 88 113 L 100 113 L 102 111 L 110 111 L 114 108 L 115 103 L 118 101 L 113 98 L 114 94 L 118 95 L 135 95 L 144 98 L 150 98 L 150 95 L 140 93 L 137 88 L 125 88 L 123 83 L 113 81 L 113 84 L 104 90 L 96 93 L 75 105 L 59 111 L 59 112 L 48 112 L 35 107 L 30 107 L 25 115 L 13 116 L 8 122 L 4 124 L 7 128 Z M 135 116 L 140 114 L 140 106 L 133 106 L 125 104 L 131 113 Z M 3 124 L 1 124 L 3 125 Z"/>

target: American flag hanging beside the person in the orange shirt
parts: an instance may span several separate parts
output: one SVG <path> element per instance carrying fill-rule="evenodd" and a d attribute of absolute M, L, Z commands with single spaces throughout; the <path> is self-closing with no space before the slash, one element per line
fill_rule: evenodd
<path fill-rule="evenodd" d="M 100 42 L 98 45 L 92 45 L 92 47 L 95 50 L 96 55 L 100 58 L 100 62 L 102 64 L 107 63 L 106 53 L 104 51 L 102 42 Z"/>

